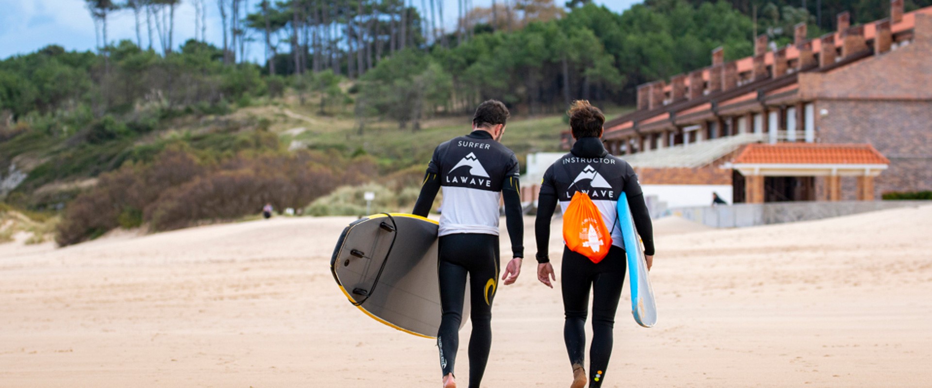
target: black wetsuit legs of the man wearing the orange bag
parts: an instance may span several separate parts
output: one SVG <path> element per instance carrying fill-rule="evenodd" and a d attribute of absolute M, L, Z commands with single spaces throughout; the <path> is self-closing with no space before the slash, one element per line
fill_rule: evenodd
<path fill-rule="evenodd" d="M 585 256 L 563 250 L 562 292 L 566 322 L 563 338 L 567 343 L 569 363 L 583 366 L 585 361 L 585 320 L 589 313 L 589 290 L 593 290 L 592 330 L 589 349 L 589 386 L 598 388 L 605 380 L 612 346 L 615 312 L 622 297 L 627 263 L 624 249 L 612 246 L 609 254 L 594 263 Z"/>

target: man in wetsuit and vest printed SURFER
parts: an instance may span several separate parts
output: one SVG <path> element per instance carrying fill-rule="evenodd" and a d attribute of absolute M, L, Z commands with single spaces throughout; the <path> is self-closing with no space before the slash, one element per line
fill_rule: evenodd
<path fill-rule="evenodd" d="M 501 145 L 508 108 L 497 100 L 479 105 L 473 132 L 446 141 L 433 152 L 414 214 L 427 217 L 437 191 L 444 190 L 440 216 L 440 301 L 443 319 L 437 333 L 440 368 L 445 388 L 455 388 L 453 368 L 459 348 L 466 275 L 469 274 L 473 334 L 469 342 L 470 388 L 478 388 L 486 371 L 492 344 L 492 300 L 497 290 L 499 260 L 499 203 L 505 204 L 512 256 L 504 284 L 514 283 L 524 257 L 524 220 L 518 184 L 518 161 Z"/>

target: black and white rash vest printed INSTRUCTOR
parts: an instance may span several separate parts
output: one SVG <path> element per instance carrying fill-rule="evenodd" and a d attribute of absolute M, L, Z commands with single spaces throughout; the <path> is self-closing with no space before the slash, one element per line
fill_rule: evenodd
<path fill-rule="evenodd" d="M 622 192 L 629 198 L 642 194 L 634 168 L 609 154 L 597 138 L 577 140 L 573 151 L 547 168 L 541 182 L 541 196 L 555 196 L 561 210 L 566 212 L 573 194 L 589 194 L 611 231 L 611 245 L 624 248 L 618 222 L 618 198 Z"/>

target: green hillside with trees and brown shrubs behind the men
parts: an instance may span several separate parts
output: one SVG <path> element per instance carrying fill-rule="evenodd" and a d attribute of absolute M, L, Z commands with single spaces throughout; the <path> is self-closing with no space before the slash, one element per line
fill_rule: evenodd
<path fill-rule="evenodd" d="M 402 190 L 482 100 L 508 104 L 505 143 L 522 157 L 554 151 L 571 100 L 617 114 L 638 84 L 705 66 L 714 47 L 736 59 L 755 31 L 778 44 L 799 21 L 821 33 L 812 4 L 782 2 L 649 0 L 617 14 L 462 0 L 451 26 L 437 0 L 190 1 L 198 33 L 180 45 L 178 0 L 87 1 L 97 50 L 0 60 L 0 200 L 63 210 L 71 244 L 300 208 L 375 177 Z M 205 39 L 207 7 L 221 11 L 222 44 Z M 119 15 L 133 35 L 108 33 Z M 245 60 L 247 42 L 265 60 Z"/>

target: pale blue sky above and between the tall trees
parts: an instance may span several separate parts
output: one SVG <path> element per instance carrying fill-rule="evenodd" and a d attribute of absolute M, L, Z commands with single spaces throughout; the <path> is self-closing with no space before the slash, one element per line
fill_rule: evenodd
<path fill-rule="evenodd" d="M 457 1 L 445 2 L 445 25 L 456 23 Z M 259 0 L 247 0 L 250 9 Z M 556 0 L 561 4 L 564 0 Z M 609 7 L 615 12 L 622 12 L 639 0 L 595 0 L 596 4 Z M 220 13 L 216 1 L 208 0 L 207 38 L 213 44 L 221 46 L 223 35 L 220 31 Z M 415 0 L 415 4 L 419 2 Z M 488 7 L 491 0 L 473 0 L 475 7 Z M 190 1 L 182 0 L 182 5 L 175 11 L 176 46 L 194 37 L 195 10 Z M 108 37 L 112 42 L 121 39 L 135 41 L 135 22 L 131 11 L 121 11 L 108 18 Z M 145 29 L 143 28 L 145 40 Z M 13 55 L 28 54 L 48 45 L 59 45 L 68 50 L 89 50 L 94 48 L 94 23 L 90 19 L 84 0 L 0 0 L 0 60 Z M 144 45 L 146 43 L 144 42 Z M 263 47 L 258 44 L 248 48 L 247 57 L 259 60 L 263 57 Z"/>

